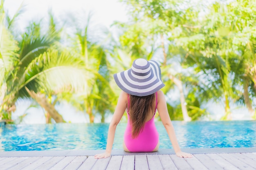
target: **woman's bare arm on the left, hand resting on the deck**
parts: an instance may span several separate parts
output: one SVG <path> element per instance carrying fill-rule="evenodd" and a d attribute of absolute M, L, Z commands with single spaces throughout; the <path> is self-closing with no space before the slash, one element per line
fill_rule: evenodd
<path fill-rule="evenodd" d="M 121 94 L 119 95 L 117 107 L 113 114 L 112 120 L 110 121 L 110 124 L 109 124 L 106 151 L 102 154 L 95 155 L 94 158 L 100 159 L 100 158 L 110 157 L 112 146 L 114 143 L 117 124 L 120 122 L 122 116 L 124 115 L 124 111 L 126 109 L 126 103 L 127 103 L 127 93 L 122 91 Z"/>

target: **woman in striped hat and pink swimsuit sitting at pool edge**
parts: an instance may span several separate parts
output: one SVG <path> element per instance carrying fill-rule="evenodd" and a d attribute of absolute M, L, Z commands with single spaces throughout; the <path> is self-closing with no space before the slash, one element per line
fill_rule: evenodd
<path fill-rule="evenodd" d="M 117 124 L 124 111 L 127 111 L 128 123 L 124 132 L 124 150 L 126 152 L 155 152 L 159 148 L 159 134 L 154 117 L 156 110 L 171 140 L 178 157 L 192 157 L 182 152 L 168 114 L 164 93 L 165 85 L 161 79 L 161 69 L 154 60 L 137 59 L 132 68 L 114 75 L 115 82 L 121 88 L 115 112 L 108 129 L 106 152 L 94 157 L 110 157 Z"/>

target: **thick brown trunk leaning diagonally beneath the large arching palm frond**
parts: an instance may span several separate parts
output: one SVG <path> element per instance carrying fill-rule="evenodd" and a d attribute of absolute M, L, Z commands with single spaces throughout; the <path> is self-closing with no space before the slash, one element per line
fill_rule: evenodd
<path fill-rule="evenodd" d="M 58 111 L 54 108 L 53 104 L 47 102 L 47 98 L 44 94 L 35 93 L 34 91 L 29 91 L 27 87 L 25 87 L 29 95 L 38 102 L 38 104 L 45 109 L 47 113 L 49 113 L 50 117 L 56 121 L 56 123 L 65 122 L 63 117 L 58 113 Z"/>

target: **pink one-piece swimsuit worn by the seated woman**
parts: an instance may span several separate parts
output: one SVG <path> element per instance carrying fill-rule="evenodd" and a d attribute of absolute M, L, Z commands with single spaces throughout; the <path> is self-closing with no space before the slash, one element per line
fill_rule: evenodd
<path fill-rule="evenodd" d="M 157 93 L 156 96 L 156 104 L 155 104 L 155 112 L 157 110 Z M 130 100 L 128 99 L 128 108 L 130 106 Z M 128 113 L 128 110 L 126 110 Z M 132 127 L 130 124 L 130 115 L 128 116 L 128 123 L 126 126 L 126 130 L 124 132 L 124 143 L 127 149 L 130 152 L 152 152 L 158 144 L 159 135 L 157 132 L 157 128 L 155 127 L 155 113 L 154 116 L 145 123 L 143 130 L 139 133 L 139 136 L 135 139 L 132 139 Z"/>

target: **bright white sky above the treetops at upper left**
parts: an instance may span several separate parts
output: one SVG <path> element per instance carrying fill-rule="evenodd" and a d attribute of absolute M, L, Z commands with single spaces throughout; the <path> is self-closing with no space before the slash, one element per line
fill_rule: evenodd
<path fill-rule="evenodd" d="M 25 27 L 28 21 L 47 16 L 49 9 L 54 15 L 61 17 L 68 12 L 91 12 L 96 24 L 110 27 L 113 21 L 126 21 L 126 9 L 119 0 L 5 0 L 4 8 L 13 16 L 23 2 L 24 13 L 18 24 Z"/>

